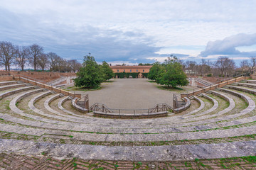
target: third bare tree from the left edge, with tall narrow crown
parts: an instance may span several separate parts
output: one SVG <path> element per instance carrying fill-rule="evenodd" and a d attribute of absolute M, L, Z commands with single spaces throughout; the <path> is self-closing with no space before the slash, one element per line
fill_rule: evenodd
<path fill-rule="evenodd" d="M 38 57 L 43 53 L 43 47 L 37 44 L 33 44 L 30 47 L 31 50 L 31 57 L 29 59 L 29 62 L 34 67 L 34 71 L 36 71 L 36 68 L 38 66 Z"/>

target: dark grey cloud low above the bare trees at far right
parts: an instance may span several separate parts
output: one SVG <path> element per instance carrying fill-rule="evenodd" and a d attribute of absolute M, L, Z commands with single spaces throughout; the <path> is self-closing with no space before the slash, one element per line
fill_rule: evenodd
<path fill-rule="evenodd" d="M 233 35 L 223 40 L 210 41 L 206 45 L 206 50 L 201 52 L 202 57 L 208 55 L 250 55 L 251 52 L 240 52 L 235 47 L 250 46 L 256 44 L 255 34 Z M 254 54 L 254 52 L 252 52 Z"/>

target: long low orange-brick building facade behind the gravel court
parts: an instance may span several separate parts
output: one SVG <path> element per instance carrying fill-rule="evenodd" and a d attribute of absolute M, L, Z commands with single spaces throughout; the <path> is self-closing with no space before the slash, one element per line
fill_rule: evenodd
<path fill-rule="evenodd" d="M 142 73 L 149 73 L 152 66 L 110 66 L 114 73 L 139 73 L 138 78 L 144 78 Z M 116 78 L 119 78 L 116 76 Z"/>

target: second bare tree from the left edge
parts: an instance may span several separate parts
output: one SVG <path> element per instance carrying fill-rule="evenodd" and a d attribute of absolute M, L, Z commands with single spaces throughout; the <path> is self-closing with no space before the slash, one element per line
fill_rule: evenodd
<path fill-rule="evenodd" d="M 21 67 L 21 71 L 24 70 L 25 64 L 28 61 L 28 57 L 30 55 L 29 48 L 26 46 L 17 46 L 16 47 L 16 55 L 15 61 L 19 67 Z"/>

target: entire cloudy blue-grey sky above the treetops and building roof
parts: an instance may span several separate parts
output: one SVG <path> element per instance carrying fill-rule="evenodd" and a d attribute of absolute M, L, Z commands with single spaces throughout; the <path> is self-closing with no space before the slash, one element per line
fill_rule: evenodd
<path fill-rule="evenodd" d="M 97 62 L 256 56 L 255 0 L 1 0 L 0 40 Z"/>

